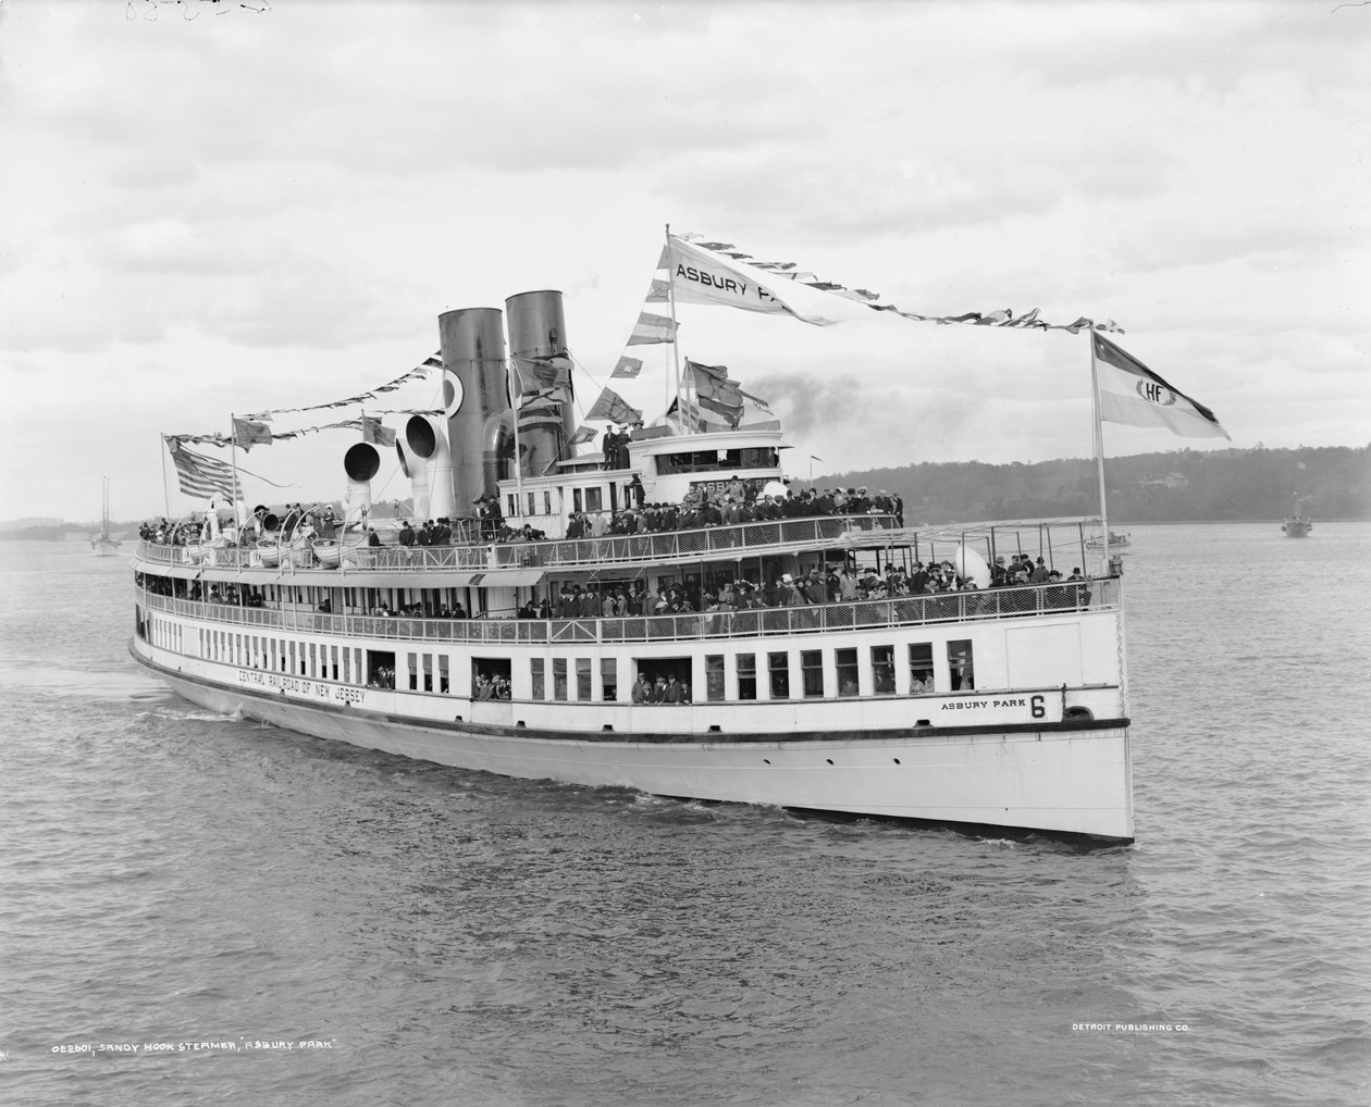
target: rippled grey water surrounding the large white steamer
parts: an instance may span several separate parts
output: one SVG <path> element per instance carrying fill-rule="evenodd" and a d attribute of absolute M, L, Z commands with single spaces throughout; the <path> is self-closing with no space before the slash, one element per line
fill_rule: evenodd
<path fill-rule="evenodd" d="M 1367 1103 L 1371 526 L 1131 532 L 1094 852 L 217 717 L 123 558 L 0 545 L 0 1102 Z"/>

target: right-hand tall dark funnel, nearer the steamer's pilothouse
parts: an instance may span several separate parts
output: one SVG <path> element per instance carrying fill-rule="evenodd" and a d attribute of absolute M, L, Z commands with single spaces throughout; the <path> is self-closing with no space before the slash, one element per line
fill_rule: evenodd
<path fill-rule="evenodd" d="M 562 293 L 521 292 L 505 301 L 505 310 L 522 390 L 553 390 L 551 396 L 520 406 L 522 471 L 525 477 L 542 477 L 553 462 L 565 456 L 566 441 L 576 433 Z"/>

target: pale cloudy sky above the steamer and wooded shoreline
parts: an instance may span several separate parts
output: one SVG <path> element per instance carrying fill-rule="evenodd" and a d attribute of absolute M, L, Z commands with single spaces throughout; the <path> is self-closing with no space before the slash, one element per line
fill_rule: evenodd
<path fill-rule="evenodd" d="M 651 421 L 670 347 L 625 343 L 668 225 L 914 314 L 1113 319 L 1233 447 L 1366 445 L 1367 58 L 1331 0 L 0 0 L 0 519 L 97 518 L 106 477 L 115 519 L 185 514 L 162 434 L 355 396 L 533 289 L 581 412 L 628 352 Z M 794 475 L 1091 456 L 1084 336 L 825 300 L 679 308 Z M 356 438 L 240 456 L 250 499 L 339 497 Z"/>

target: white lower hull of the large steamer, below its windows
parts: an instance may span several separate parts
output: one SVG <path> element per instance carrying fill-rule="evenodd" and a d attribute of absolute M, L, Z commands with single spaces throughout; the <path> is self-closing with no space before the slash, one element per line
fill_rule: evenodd
<path fill-rule="evenodd" d="M 437 764 L 699 800 L 1116 841 L 1131 841 L 1134 836 L 1126 719 L 997 726 L 980 723 L 982 712 L 968 710 L 968 717 L 978 717 L 976 725 L 905 726 L 902 733 L 849 733 L 839 725 L 832 733 L 721 734 L 714 741 L 699 741 L 692 734 L 705 729 L 699 717 L 717 712 L 724 718 L 729 708 L 614 704 L 600 715 L 620 722 L 613 732 L 558 733 L 520 726 L 515 715 L 551 707 L 565 717 L 568 704 L 462 700 L 455 704 L 461 714 L 454 718 L 425 719 L 417 712 L 432 696 L 339 689 L 203 663 L 195 667 L 221 671 L 195 675 L 177 671 L 185 658 L 156 659 L 160 651 L 140 640 L 132 649 L 173 691 L 213 711 Z M 995 714 L 997 703 L 1028 699 L 1001 696 L 960 699 L 984 700 L 986 715 Z M 899 697 L 880 707 L 887 715 L 912 718 L 935 714 L 947 699 Z M 454 704 L 447 700 L 446 706 Z M 834 707 L 834 719 L 853 714 L 851 704 Z M 729 714 L 736 719 L 733 708 Z M 635 715 L 644 733 L 629 737 Z"/>

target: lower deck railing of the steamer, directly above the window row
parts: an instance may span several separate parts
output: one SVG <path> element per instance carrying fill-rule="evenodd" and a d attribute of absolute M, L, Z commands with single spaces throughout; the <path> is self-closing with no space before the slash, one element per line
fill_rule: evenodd
<path fill-rule="evenodd" d="M 812 634 L 828 630 L 917 626 L 921 623 L 1105 611 L 1119 607 L 1120 581 L 1023 585 L 984 592 L 947 592 L 888 600 L 701 611 L 688 615 L 633 615 L 610 619 L 421 619 L 363 614 L 236 607 L 140 592 L 151 610 L 234 626 L 317 634 L 436 643 L 638 643 L 696 641 Z"/>

